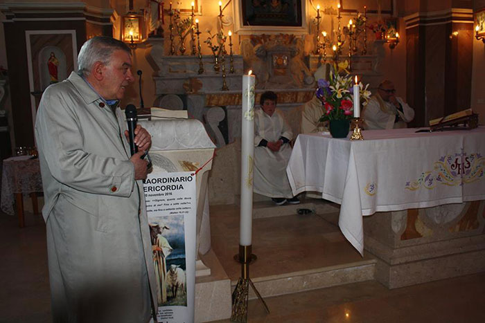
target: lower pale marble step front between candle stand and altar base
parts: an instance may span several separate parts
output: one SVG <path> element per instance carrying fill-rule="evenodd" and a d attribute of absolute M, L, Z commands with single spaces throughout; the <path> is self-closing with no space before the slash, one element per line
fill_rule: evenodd
<path fill-rule="evenodd" d="M 313 268 L 294 273 L 256 277 L 251 279 L 256 289 L 264 297 L 299 293 L 307 290 L 340 286 L 355 282 L 374 280 L 376 259 L 363 259 L 348 264 Z M 237 280 L 231 281 L 231 290 L 236 288 Z M 249 299 L 256 294 L 249 287 Z M 270 308 L 271 311 L 271 308 Z"/>

